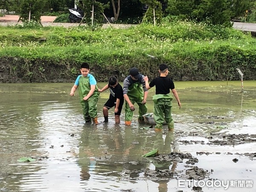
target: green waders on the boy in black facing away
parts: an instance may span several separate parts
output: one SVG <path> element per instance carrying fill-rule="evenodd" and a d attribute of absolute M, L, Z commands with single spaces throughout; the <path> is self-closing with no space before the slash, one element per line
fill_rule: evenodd
<path fill-rule="evenodd" d="M 169 129 L 174 128 L 172 119 L 172 99 L 170 93 L 153 96 L 155 128 L 162 129 L 164 120 L 166 120 Z"/>

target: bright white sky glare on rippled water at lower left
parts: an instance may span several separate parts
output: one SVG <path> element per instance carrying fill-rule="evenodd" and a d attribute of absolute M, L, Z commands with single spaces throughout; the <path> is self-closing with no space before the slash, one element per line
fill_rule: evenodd
<path fill-rule="evenodd" d="M 75 116 L 69 105 L 68 102 L 58 101 L 38 103 L 41 114 L 34 115 L 40 126 L 37 128 L 37 138 L 33 140 L 38 144 L 33 156 L 39 160 L 35 164 L 40 169 L 23 176 L 21 190 L 82 191 L 79 186 L 80 169 L 76 163 L 79 140 L 70 136 L 70 133 L 79 134 L 79 128 L 70 124 Z M 31 163 L 27 165 L 31 166 Z"/>

